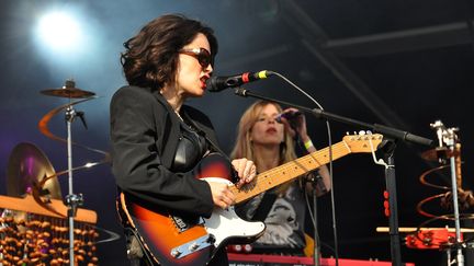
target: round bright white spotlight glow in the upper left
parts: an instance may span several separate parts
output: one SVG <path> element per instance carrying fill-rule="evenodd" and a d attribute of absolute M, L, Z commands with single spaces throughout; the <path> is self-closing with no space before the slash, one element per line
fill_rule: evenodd
<path fill-rule="evenodd" d="M 43 43 L 54 50 L 71 50 L 81 38 L 79 23 L 70 14 L 58 11 L 40 20 L 37 34 Z"/>

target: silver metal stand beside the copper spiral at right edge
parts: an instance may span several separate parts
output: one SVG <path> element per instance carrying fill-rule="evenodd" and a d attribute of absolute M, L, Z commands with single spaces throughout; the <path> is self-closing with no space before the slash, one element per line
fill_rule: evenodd
<path fill-rule="evenodd" d="M 461 224 L 460 224 L 460 212 L 459 212 L 459 199 L 458 199 L 458 182 L 456 182 L 456 164 L 455 164 L 455 144 L 458 141 L 456 131 L 459 128 L 447 128 L 442 124 L 441 120 L 436 120 L 433 124 L 430 124 L 431 128 L 437 130 L 437 136 L 439 140 L 439 146 L 442 147 L 443 143 L 448 146 L 450 149 L 450 165 L 451 165 L 451 193 L 453 200 L 453 210 L 454 210 L 454 227 L 455 227 L 455 236 L 456 243 L 454 244 L 456 248 L 456 258 L 455 262 L 458 266 L 464 265 L 464 255 L 462 253 L 462 239 L 461 239 Z M 442 159 L 440 159 L 442 160 Z M 450 253 L 450 251 L 448 251 Z M 448 256 L 448 265 L 451 265 L 451 255 Z"/>

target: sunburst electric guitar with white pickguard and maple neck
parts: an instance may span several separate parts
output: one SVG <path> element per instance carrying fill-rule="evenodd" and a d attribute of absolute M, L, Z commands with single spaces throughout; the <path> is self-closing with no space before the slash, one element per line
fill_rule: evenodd
<path fill-rule="evenodd" d="M 332 160 L 349 153 L 372 152 L 382 139 L 379 134 L 346 136 L 332 144 Z M 232 166 L 224 158 L 207 155 L 193 171 L 199 178 L 228 183 L 236 204 L 239 204 L 328 162 L 329 147 L 260 173 L 252 183 L 240 188 L 230 182 Z M 216 207 L 208 219 L 182 218 L 157 207 L 140 205 L 121 194 L 117 210 L 122 221 L 136 229 L 147 254 L 163 266 L 206 265 L 219 247 L 229 243 L 250 243 L 266 229 L 260 221 L 240 219 L 234 206 L 227 209 Z"/>

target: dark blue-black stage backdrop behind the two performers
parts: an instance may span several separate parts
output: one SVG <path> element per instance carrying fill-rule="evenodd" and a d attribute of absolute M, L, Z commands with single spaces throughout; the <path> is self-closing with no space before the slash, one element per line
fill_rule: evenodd
<path fill-rule="evenodd" d="M 38 18 L 52 8 L 74 10 L 82 20 L 83 37 L 67 53 L 41 48 L 34 36 Z M 43 150 L 55 170 L 67 169 L 66 144 L 43 136 L 37 123 L 49 111 L 67 103 L 42 90 L 60 88 L 66 79 L 93 91 L 98 99 L 76 106 L 83 111 L 89 129 L 77 120 L 72 139 L 109 150 L 109 102 L 125 83 L 119 55 L 122 44 L 151 19 L 179 12 L 215 28 L 219 54 L 215 74 L 272 70 L 296 83 L 330 113 L 377 123 L 436 140 L 430 124 L 441 119 L 458 127 L 462 143 L 463 187 L 472 188 L 474 126 L 471 124 L 474 86 L 474 2 L 471 0 L 212 0 L 212 1 L 2 1 L 0 14 L 0 171 L 5 173 L 11 150 L 31 142 Z M 262 95 L 316 107 L 279 78 L 246 85 Z M 230 151 L 236 124 L 255 100 L 232 90 L 207 93 L 190 101 L 215 124 L 221 143 Z M 471 115 L 470 115 L 471 114 Z M 317 148 L 328 146 L 324 120 L 307 115 L 308 130 Z M 334 142 L 359 128 L 331 122 Z M 49 128 L 66 136 L 64 115 Z M 395 150 L 398 220 L 416 227 L 427 218 L 416 211 L 419 200 L 444 190 L 422 186 L 419 175 L 437 166 L 420 153 L 430 149 L 397 142 Z M 98 161 L 101 155 L 74 149 L 74 164 Z M 447 173 L 432 181 L 449 184 Z M 59 178 L 67 195 L 67 178 Z M 5 195 L 5 174 L 0 174 Z M 339 257 L 390 261 L 390 239 L 375 228 L 387 225 L 384 217 L 384 169 L 371 155 L 350 154 L 334 163 L 334 196 Z M 84 196 L 84 208 L 99 213 L 98 225 L 120 233 L 116 221 L 114 178 L 109 165 L 75 172 L 75 193 Z M 334 256 L 331 198 L 318 200 L 323 256 Z M 448 213 L 437 203 L 437 213 Z M 466 210 L 467 212 L 470 210 Z M 444 223 L 443 223 L 444 224 Z M 449 223 L 451 227 L 452 224 Z M 442 224 L 435 224 L 442 225 Z M 405 236 L 400 234 L 400 236 Z M 402 240 L 403 242 L 403 240 Z M 101 265 L 126 265 L 123 240 L 99 245 Z M 402 246 L 405 262 L 445 265 L 442 252 Z M 470 257 L 467 256 L 467 259 Z M 467 265 L 474 264 L 473 261 Z"/>

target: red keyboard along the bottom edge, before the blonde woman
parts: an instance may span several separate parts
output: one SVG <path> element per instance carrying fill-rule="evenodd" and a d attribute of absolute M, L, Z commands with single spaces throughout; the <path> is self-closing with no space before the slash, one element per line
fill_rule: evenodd
<path fill-rule="evenodd" d="M 229 266 L 304 266 L 314 265 L 312 257 L 227 253 Z M 320 258 L 320 266 L 336 266 L 335 258 Z M 405 263 L 405 266 L 415 266 Z M 339 266 L 392 266 L 392 262 L 339 258 Z"/>

